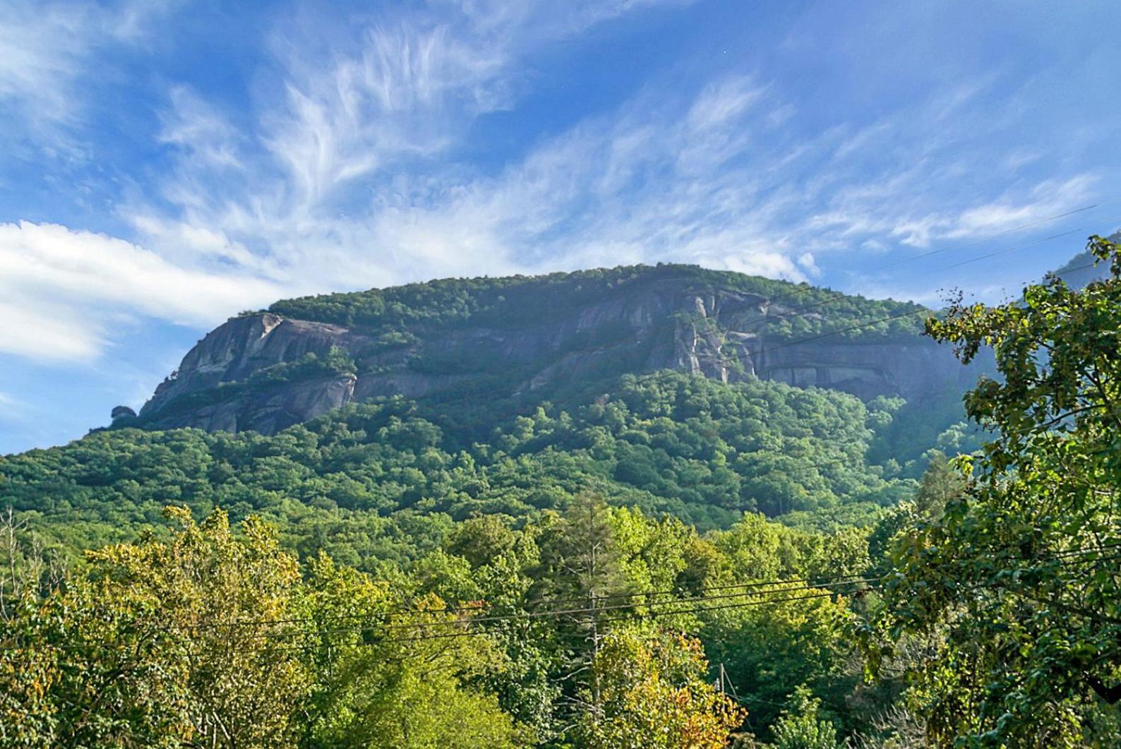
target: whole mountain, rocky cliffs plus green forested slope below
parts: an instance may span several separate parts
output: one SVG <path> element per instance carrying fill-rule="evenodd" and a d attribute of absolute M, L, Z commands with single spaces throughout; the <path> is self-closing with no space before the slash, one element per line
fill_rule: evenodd
<path fill-rule="evenodd" d="M 223 507 L 367 570 L 587 487 L 702 530 L 867 525 L 928 451 L 975 446 L 976 368 L 919 335 L 927 312 L 689 266 L 278 302 L 206 335 L 139 415 L 0 456 L 0 507 L 68 549 Z"/>

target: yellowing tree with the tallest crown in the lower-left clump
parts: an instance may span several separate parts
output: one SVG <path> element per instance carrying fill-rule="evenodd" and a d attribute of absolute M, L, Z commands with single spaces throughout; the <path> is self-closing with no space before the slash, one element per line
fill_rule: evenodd
<path fill-rule="evenodd" d="M 286 620 L 299 581 L 296 558 L 280 551 L 276 529 L 257 518 L 235 537 L 214 510 L 195 524 L 183 508 L 180 528 L 164 544 L 110 546 L 89 555 L 90 576 L 108 594 L 140 590 L 157 601 L 156 621 L 184 644 L 191 721 L 217 746 L 275 745 L 290 739 L 291 715 L 309 674 L 290 646 Z"/>

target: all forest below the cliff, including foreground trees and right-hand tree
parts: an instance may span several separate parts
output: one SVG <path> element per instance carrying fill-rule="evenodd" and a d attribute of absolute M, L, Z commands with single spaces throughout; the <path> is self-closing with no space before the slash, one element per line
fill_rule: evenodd
<path fill-rule="evenodd" d="M 970 426 L 656 372 L 4 456 L 0 742 L 1119 746 L 1121 248 L 1088 251 L 1105 280 L 927 322 L 995 353 Z M 380 294 L 281 304 L 488 314 Z"/>

